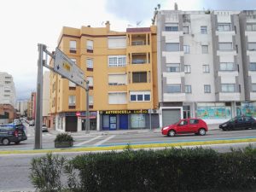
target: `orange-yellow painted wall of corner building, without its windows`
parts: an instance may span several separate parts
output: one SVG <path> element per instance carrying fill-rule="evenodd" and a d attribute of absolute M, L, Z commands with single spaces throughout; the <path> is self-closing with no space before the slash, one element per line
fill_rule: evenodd
<path fill-rule="evenodd" d="M 116 43 L 115 47 L 113 47 L 112 40 L 119 42 L 120 45 Z M 76 42 L 75 51 L 70 51 L 70 41 Z M 87 49 L 87 41 L 93 42 L 93 50 Z M 142 41 L 148 44 L 140 44 Z M 140 43 L 135 46 L 133 44 L 134 42 Z M 84 71 L 85 77 L 93 79 L 93 84 L 90 84 L 89 90 L 89 96 L 93 98 L 89 103 L 90 127 L 92 129 L 102 129 L 100 122 L 103 119 L 100 119 L 101 116 L 98 115 L 100 112 L 115 111 L 115 119 L 119 119 L 124 118 L 119 117 L 119 110 L 125 110 L 125 113 L 134 111 L 136 114 L 131 115 L 133 119 L 147 119 L 149 117 L 148 109 L 158 107 L 157 75 L 155 74 L 157 71 L 155 26 L 130 31 L 127 29 L 127 32 L 110 31 L 110 24 L 108 22 L 105 27 L 98 28 L 90 26 L 82 26 L 80 29 L 63 27 L 58 47 L 69 58 L 76 61 L 76 64 Z M 125 56 L 125 66 L 110 67 L 108 60 L 111 56 Z M 87 59 L 93 60 L 93 68 L 86 66 Z M 132 64 L 135 60 L 146 61 L 146 63 Z M 53 61 L 51 65 L 53 65 Z M 140 72 L 147 74 L 147 83 L 132 83 L 132 74 Z M 124 74 L 126 76 L 125 84 L 108 84 L 108 78 L 113 74 Z M 59 75 L 50 73 L 49 90 L 49 110 L 53 116 L 52 119 L 55 119 L 55 123 L 52 126 L 55 126 L 55 129 L 60 131 L 67 131 L 67 129 L 70 131 L 84 130 L 86 106 L 84 89 L 78 86 L 70 87 L 67 79 L 61 79 Z M 150 101 L 131 102 L 130 92 L 142 90 L 150 93 Z M 117 102 L 112 100 L 113 103 L 109 103 L 109 97 L 113 93 L 125 93 L 125 97 L 122 97 L 124 101 Z M 75 105 L 71 106 L 69 104 L 69 96 L 75 96 Z M 120 96 L 117 97 L 118 100 L 120 98 Z M 147 114 L 136 118 L 137 112 L 141 112 L 141 110 L 144 110 L 143 112 L 147 112 Z M 81 117 L 78 117 L 76 123 L 72 124 L 69 120 L 73 119 L 73 116 L 76 116 L 76 112 L 80 112 Z M 108 118 L 111 117 L 109 116 Z M 67 127 L 72 125 L 77 125 L 77 127 Z"/>

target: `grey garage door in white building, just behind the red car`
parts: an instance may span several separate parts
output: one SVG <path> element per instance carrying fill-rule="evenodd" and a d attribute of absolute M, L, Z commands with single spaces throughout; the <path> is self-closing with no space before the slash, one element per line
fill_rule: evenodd
<path fill-rule="evenodd" d="M 162 111 L 163 126 L 176 123 L 180 119 L 180 109 L 179 108 L 168 108 Z"/>

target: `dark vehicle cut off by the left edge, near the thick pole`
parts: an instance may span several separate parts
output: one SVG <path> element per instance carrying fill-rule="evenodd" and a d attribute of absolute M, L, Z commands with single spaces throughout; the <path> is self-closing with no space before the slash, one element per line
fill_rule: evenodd
<path fill-rule="evenodd" d="M 3 145 L 9 145 L 9 143 L 19 144 L 26 139 L 23 125 L 16 125 L 14 123 L 0 125 L 0 143 L 3 143 Z"/>

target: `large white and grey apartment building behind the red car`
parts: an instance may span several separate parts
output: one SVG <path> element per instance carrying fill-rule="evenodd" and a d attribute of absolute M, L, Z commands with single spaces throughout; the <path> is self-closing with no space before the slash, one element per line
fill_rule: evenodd
<path fill-rule="evenodd" d="M 255 11 L 250 14 L 256 15 Z M 197 117 L 214 124 L 241 114 L 256 117 L 256 17 L 249 20 L 246 15 L 239 11 L 158 12 L 160 126 L 180 118 Z M 241 44 L 242 38 L 247 41 Z"/>

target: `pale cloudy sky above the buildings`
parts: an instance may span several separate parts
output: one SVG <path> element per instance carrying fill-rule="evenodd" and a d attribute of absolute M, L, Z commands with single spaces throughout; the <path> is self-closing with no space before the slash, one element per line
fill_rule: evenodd
<path fill-rule="evenodd" d="M 111 30 L 150 26 L 154 7 L 181 10 L 256 9 L 255 0 L 6 0 L 0 1 L 0 72 L 15 80 L 17 99 L 36 90 L 38 44 L 54 50 L 62 26 L 102 26 Z"/>

